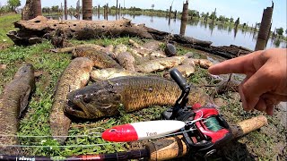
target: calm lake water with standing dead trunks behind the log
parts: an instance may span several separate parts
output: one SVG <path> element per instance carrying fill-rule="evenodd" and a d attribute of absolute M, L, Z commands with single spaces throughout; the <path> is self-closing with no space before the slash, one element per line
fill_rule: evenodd
<path fill-rule="evenodd" d="M 181 21 L 179 19 L 169 19 L 167 17 L 123 14 L 120 17 L 132 20 L 133 23 L 144 23 L 147 27 L 163 30 L 173 34 L 179 34 Z M 58 17 L 52 17 L 58 19 Z M 68 20 L 76 20 L 73 15 L 67 16 Z M 81 17 L 82 19 L 82 17 Z M 116 15 L 109 15 L 108 20 L 114 21 Z M 93 21 L 104 20 L 102 14 L 93 14 Z M 236 45 L 247 47 L 254 50 L 257 43 L 257 32 L 237 30 L 223 25 L 212 25 L 203 21 L 187 21 L 185 35 L 188 37 L 197 38 L 200 40 L 212 41 L 213 46 L 230 46 Z M 270 38 L 266 48 L 272 47 L 287 47 L 287 43 Z"/>

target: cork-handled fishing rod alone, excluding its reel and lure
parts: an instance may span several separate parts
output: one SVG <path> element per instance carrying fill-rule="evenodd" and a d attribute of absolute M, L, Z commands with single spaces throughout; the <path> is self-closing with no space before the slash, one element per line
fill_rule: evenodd
<path fill-rule="evenodd" d="M 263 127 L 267 124 L 265 116 L 260 115 L 250 118 L 248 120 L 230 125 L 232 132 L 232 139 L 237 139 L 248 134 L 251 131 Z M 183 139 L 183 135 L 176 135 L 161 140 L 154 140 L 145 145 L 145 148 L 139 150 L 131 150 L 127 152 L 117 152 L 111 154 L 99 155 L 83 155 L 83 156 L 66 156 L 66 157 L 43 157 L 43 156 L 11 156 L 1 155 L 1 160 L 127 160 L 127 159 L 140 159 L 148 158 L 149 160 L 168 160 L 176 157 L 183 157 L 187 155 L 189 147 Z"/>

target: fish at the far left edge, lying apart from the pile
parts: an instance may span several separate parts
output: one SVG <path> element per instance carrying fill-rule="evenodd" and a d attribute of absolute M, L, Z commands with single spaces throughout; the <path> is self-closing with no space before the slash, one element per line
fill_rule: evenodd
<path fill-rule="evenodd" d="M 27 107 L 30 93 L 34 89 L 34 68 L 31 64 L 23 64 L 0 95 L 0 145 L 17 144 L 17 138 L 4 135 L 17 135 L 19 118 Z M 0 153 L 12 155 L 17 153 L 17 150 L 0 146 Z"/>

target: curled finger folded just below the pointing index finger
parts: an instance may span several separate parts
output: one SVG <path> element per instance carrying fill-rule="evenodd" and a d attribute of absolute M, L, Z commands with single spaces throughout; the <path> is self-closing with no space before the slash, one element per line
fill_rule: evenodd
<path fill-rule="evenodd" d="M 246 110 L 253 109 L 259 98 L 274 88 L 273 75 L 270 73 L 272 72 L 263 66 L 242 84 L 241 92 L 246 99 Z"/>

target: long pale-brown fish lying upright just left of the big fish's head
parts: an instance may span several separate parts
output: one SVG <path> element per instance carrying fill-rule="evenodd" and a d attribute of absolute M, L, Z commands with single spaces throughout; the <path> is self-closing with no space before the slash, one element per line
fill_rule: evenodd
<path fill-rule="evenodd" d="M 66 95 L 85 86 L 90 79 L 92 62 L 87 57 L 75 58 L 62 73 L 57 82 L 57 91 L 50 114 L 50 127 L 53 136 L 67 136 L 71 120 L 64 114 L 63 107 L 67 101 Z M 56 138 L 60 143 L 65 137 Z"/>

